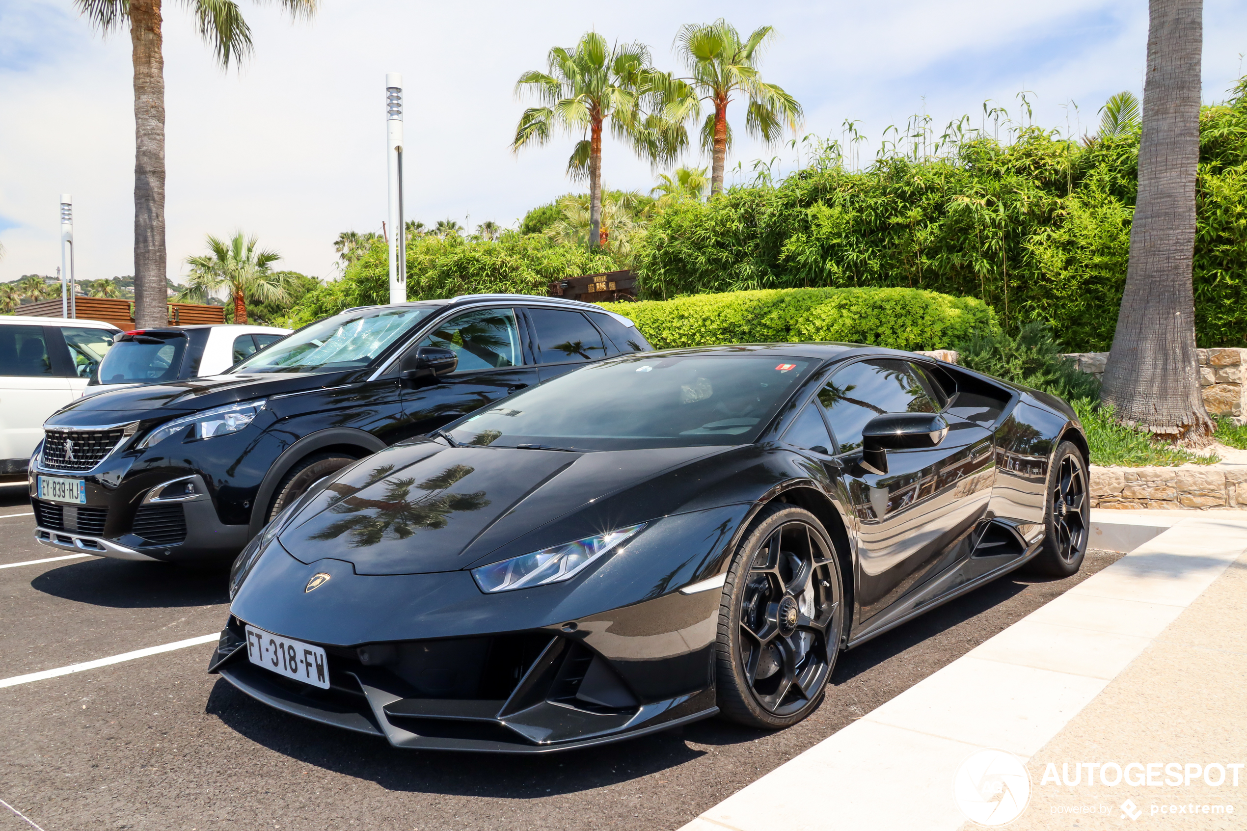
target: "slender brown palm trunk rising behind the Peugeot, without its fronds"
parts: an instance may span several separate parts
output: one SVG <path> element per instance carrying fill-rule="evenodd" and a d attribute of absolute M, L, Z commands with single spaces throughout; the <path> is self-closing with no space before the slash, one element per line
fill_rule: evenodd
<path fill-rule="evenodd" d="M 135 62 L 135 321 L 168 324 L 165 289 L 165 57 L 161 0 L 130 0 Z"/>

